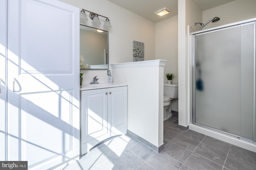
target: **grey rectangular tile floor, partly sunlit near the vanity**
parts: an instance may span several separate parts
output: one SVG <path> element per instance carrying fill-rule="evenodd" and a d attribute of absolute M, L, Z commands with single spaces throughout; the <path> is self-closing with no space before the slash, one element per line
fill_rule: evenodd
<path fill-rule="evenodd" d="M 129 135 L 107 141 L 64 170 L 256 170 L 256 153 L 164 121 L 160 153 Z"/>

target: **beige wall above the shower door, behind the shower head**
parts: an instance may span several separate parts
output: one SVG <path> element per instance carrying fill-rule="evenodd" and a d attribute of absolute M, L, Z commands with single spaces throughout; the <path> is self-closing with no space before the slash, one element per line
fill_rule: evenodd
<path fill-rule="evenodd" d="M 220 20 L 215 23 L 208 23 L 204 29 L 256 18 L 256 0 L 236 0 L 205 10 L 203 11 L 203 23 L 206 23 L 216 16 L 220 17 Z"/>

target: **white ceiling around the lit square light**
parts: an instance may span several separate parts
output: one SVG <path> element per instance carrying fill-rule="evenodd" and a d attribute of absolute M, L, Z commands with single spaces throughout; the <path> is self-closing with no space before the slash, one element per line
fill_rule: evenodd
<path fill-rule="evenodd" d="M 159 22 L 178 15 L 178 0 L 108 0 L 126 10 L 129 10 L 143 18 L 153 22 Z M 208 10 L 216 6 L 232 2 L 234 0 L 193 0 L 202 10 Z M 171 12 L 165 16 L 157 16 L 154 12 L 168 8 Z"/>

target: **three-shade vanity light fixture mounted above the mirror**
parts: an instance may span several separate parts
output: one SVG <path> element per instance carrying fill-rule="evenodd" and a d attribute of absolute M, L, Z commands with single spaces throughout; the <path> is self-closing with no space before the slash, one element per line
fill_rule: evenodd
<path fill-rule="evenodd" d="M 92 20 L 92 25 L 94 25 L 94 26 L 100 25 L 99 16 L 101 16 L 101 17 L 106 18 L 103 27 L 106 28 L 106 29 L 109 29 L 109 28 L 112 27 L 111 24 L 110 24 L 110 21 L 109 21 L 108 17 L 102 16 L 102 15 L 100 15 L 100 14 L 96 14 L 96 13 L 94 13 L 94 12 L 91 12 L 91 11 L 88 11 L 88 10 L 85 10 L 85 9 L 82 9 L 81 12 L 80 12 L 80 21 L 81 21 L 81 22 L 87 22 L 87 21 L 88 21 L 88 19 L 87 19 L 87 17 L 86 17 L 86 13 L 85 13 L 86 11 L 87 11 L 87 12 L 90 12 L 89 16 L 90 16 L 90 18 L 91 18 L 91 20 Z"/>

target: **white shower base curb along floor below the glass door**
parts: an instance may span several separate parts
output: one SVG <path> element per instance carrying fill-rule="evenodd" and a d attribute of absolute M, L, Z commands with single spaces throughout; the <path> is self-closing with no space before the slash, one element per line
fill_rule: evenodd
<path fill-rule="evenodd" d="M 198 133 L 202 133 L 204 135 L 219 139 L 221 141 L 230 143 L 232 145 L 236 145 L 238 147 L 250 150 L 252 152 L 256 152 L 256 145 L 254 145 L 252 143 L 249 143 L 249 142 L 246 142 L 246 141 L 239 140 L 235 137 L 224 135 L 222 133 L 218 133 L 216 131 L 212 131 L 210 129 L 206 129 L 204 127 L 200 127 L 200 126 L 197 126 L 197 125 L 194 125 L 194 124 L 189 124 L 189 129 L 192 130 L 192 131 L 196 131 Z"/>

